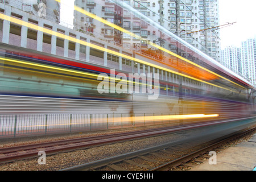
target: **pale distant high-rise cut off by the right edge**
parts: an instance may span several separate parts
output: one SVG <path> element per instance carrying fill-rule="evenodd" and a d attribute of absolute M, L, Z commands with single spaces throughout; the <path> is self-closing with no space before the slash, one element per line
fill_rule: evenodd
<path fill-rule="evenodd" d="M 256 46 L 255 39 L 242 42 L 241 46 L 242 75 L 256 85 Z"/>

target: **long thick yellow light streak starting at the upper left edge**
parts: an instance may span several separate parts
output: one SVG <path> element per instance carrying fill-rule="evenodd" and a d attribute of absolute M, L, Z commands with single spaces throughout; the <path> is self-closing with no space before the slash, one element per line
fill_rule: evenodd
<path fill-rule="evenodd" d="M 234 92 L 233 90 L 230 90 L 228 88 L 224 88 L 222 86 L 218 86 L 218 85 L 215 85 L 215 84 L 212 84 L 210 82 L 207 82 L 207 81 L 203 81 L 203 80 L 200 80 L 200 79 L 197 79 L 197 78 L 194 78 L 194 77 L 191 77 L 191 76 L 188 76 L 188 75 L 184 75 L 182 73 L 179 73 L 179 72 L 175 72 L 175 71 L 172 71 L 171 69 L 167 69 L 167 68 L 164 68 L 164 67 L 160 67 L 158 65 L 155 65 L 155 64 L 152 64 L 152 63 L 148 63 L 147 61 L 143 61 L 143 60 L 139 60 L 135 57 L 131 57 L 131 56 L 128 56 L 128 55 L 124 55 L 122 53 L 119 53 L 119 52 L 115 52 L 115 51 L 112 51 L 110 49 L 107 49 L 107 48 L 102 48 L 100 46 L 97 46 L 95 44 L 91 44 L 91 43 L 88 43 L 88 42 L 85 42 L 84 40 L 80 40 L 80 39 L 76 39 L 76 38 L 73 38 L 71 36 L 68 36 L 68 35 L 64 35 L 64 34 L 61 34 L 59 32 L 56 32 L 56 31 L 52 31 L 52 30 L 49 30 L 47 28 L 44 28 L 44 27 L 40 27 L 40 26 L 37 26 L 35 24 L 32 24 L 32 23 L 28 23 L 28 22 L 25 22 L 23 20 L 20 20 L 20 19 L 17 19 L 17 18 L 14 18 L 14 17 L 11 17 L 11 16 L 8 16 L 8 15 L 5 15 L 5 14 L 1 14 L 0 13 L 0 18 L 1 19 L 5 19 L 5 20 L 8 20 L 10 22 L 13 22 L 13 23 L 16 23 L 16 24 L 20 24 L 22 26 L 26 26 L 28 28 L 32 28 L 34 30 L 38 30 L 38 31 L 42 31 L 46 34 L 50 34 L 50 35 L 54 35 L 54 36 L 57 36 L 59 38 L 62 38 L 62 39 L 66 39 L 66 40 L 69 40 L 69 41 L 72 41 L 72 42 L 76 42 L 76 43 L 79 43 L 79 44 L 82 44 L 84 46 L 89 46 L 89 47 L 92 47 L 92 48 L 95 48 L 95 49 L 98 49 L 100 51 L 104 51 L 104 52 L 108 52 L 108 53 L 112 53 L 113 55 L 117 55 L 117 56 L 121 56 L 121 57 L 124 57 L 126 59 L 130 59 L 130 60 L 133 60 L 133 61 L 136 61 L 138 63 L 142 63 L 142 64 L 145 64 L 145 65 L 149 65 L 151 67 L 155 67 L 155 68 L 159 68 L 159 69 L 162 69 L 164 71 L 167 71 L 167 72 L 171 72 L 171 73 L 174 73 L 176 75 L 180 75 L 180 76 L 183 76 L 183 77 L 187 77 L 187 78 L 191 78 L 192 80 L 196 80 L 196 81 L 199 81 L 199 82 L 203 82 L 205 84 L 208 84 L 208 85 L 212 85 L 212 86 L 216 86 L 218 88 L 222 88 L 222 89 L 225 89 L 225 90 L 229 90 L 231 92 Z M 12 61 L 9 59 L 9 61 Z M 17 62 L 18 63 L 18 62 Z M 19 61 L 19 63 L 24 63 L 24 62 L 21 62 Z M 36 65 L 36 64 L 35 64 Z M 42 66 L 42 65 L 41 65 Z M 46 66 L 44 66 L 46 68 Z M 48 68 L 53 68 L 53 67 L 48 67 Z M 55 68 L 56 69 L 56 68 Z M 77 71 L 71 71 L 71 70 L 68 70 L 68 69 L 60 69 L 60 68 L 57 68 L 59 70 L 62 70 L 62 71 L 68 71 L 68 72 L 74 72 L 74 73 L 81 73 L 81 74 L 84 74 L 84 75 L 89 75 L 89 73 L 82 73 L 82 72 L 77 72 Z"/>

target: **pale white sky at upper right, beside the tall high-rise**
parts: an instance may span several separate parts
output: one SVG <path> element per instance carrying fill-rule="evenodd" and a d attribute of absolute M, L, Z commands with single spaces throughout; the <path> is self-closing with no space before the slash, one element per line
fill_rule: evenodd
<path fill-rule="evenodd" d="M 219 0 L 220 24 L 237 22 L 220 29 L 221 48 L 241 47 L 241 42 L 256 35 L 255 0 Z"/>

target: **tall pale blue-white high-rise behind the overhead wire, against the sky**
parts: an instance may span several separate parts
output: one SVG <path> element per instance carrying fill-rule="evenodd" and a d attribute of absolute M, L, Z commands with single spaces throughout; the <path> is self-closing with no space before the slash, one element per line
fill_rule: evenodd
<path fill-rule="evenodd" d="M 220 59 L 218 0 L 170 0 L 164 7 L 168 30 L 213 59 Z"/>

